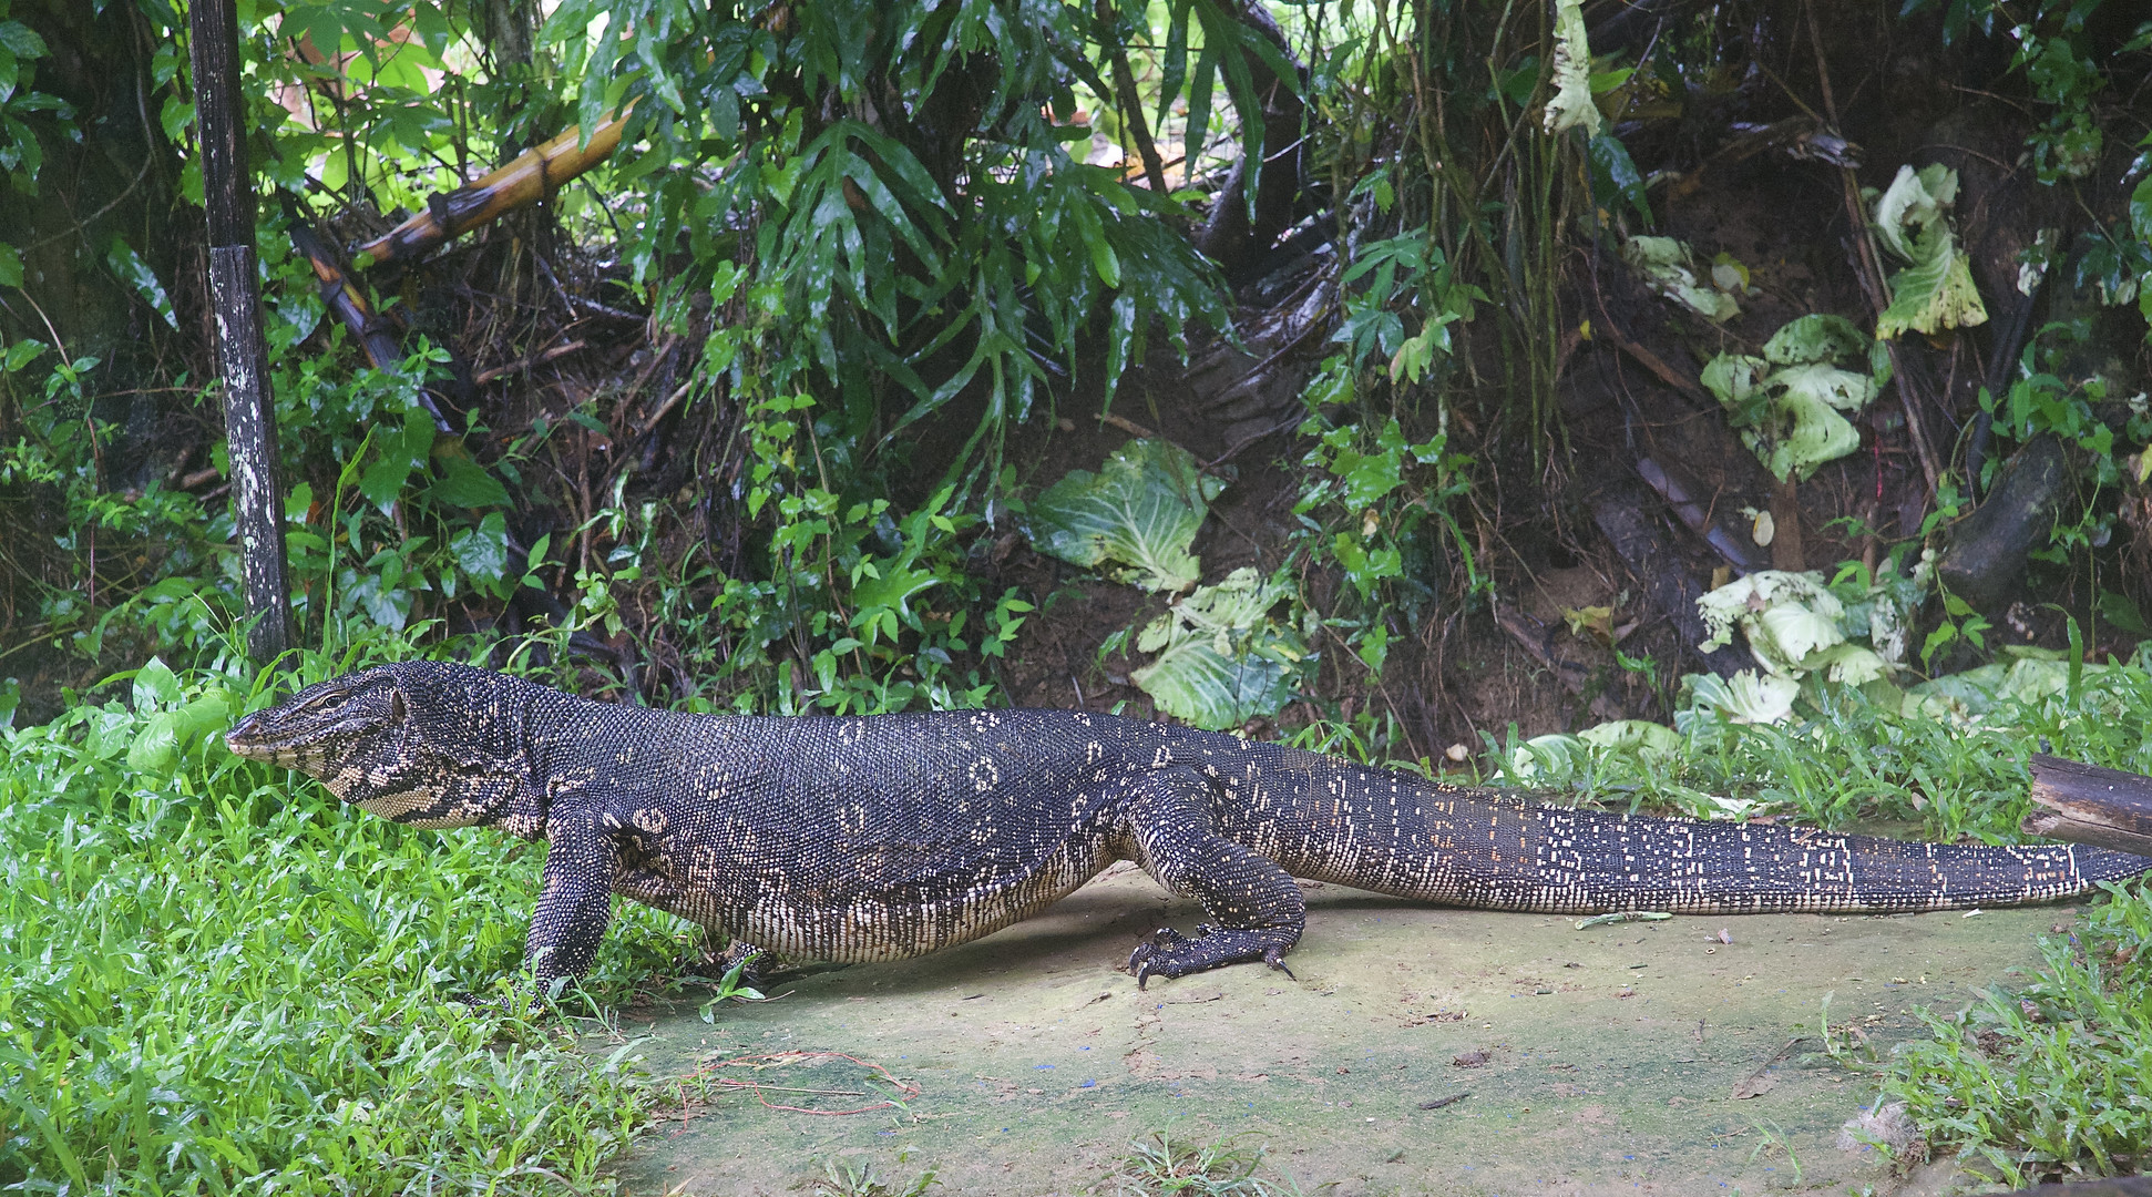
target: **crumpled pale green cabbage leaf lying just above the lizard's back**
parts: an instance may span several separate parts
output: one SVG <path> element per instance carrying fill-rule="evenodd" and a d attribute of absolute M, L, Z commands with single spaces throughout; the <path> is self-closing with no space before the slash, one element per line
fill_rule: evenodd
<path fill-rule="evenodd" d="M 1293 700 L 1293 663 L 1306 654 L 1291 629 L 1270 620 L 1289 594 L 1291 586 L 1252 568 L 1197 588 L 1136 637 L 1141 652 L 1158 657 L 1130 680 L 1166 715 L 1214 732 L 1276 715 Z"/>

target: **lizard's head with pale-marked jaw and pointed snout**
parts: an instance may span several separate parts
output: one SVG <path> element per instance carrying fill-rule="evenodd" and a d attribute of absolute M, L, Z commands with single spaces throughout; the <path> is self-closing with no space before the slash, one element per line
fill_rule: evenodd
<path fill-rule="evenodd" d="M 523 788 L 514 678 L 402 661 L 310 685 L 224 734 L 232 756 L 297 769 L 336 797 L 411 827 L 471 827 Z"/>

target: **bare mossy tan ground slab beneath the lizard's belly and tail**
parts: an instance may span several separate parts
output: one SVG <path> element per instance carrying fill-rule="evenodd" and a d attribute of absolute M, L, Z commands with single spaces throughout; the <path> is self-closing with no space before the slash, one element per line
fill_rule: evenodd
<path fill-rule="evenodd" d="M 1315 887 L 1298 980 L 1235 967 L 1138 992 L 1115 971 L 1130 943 L 1197 911 L 1119 865 L 979 943 L 773 986 L 712 1023 L 695 1003 L 628 1010 L 620 1040 L 590 1046 L 633 1042 L 684 1079 L 689 1100 L 618 1169 L 635 1195 L 809 1193 L 863 1165 L 893 1191 L 936 1169 L 936 1193 L 1115 1193 L 1156 1135 L 1265 1147 L 1261 1178 L 1334 1197 L 1932 1195 L 1958 1188 L 1948 1167 L 1902 1180 L 1838 1147 L 1874 1087 L 1821 1053 L 1823 1003 L 1889 1051 L 1917 1033 L 1911 1008 L 2029 971 L 2070 915 L 1577 930 Z M 867 1066 L 917 1096 L 880 1104 Z M 695 1096 L 697 1079 L 770 1089 Z"/>

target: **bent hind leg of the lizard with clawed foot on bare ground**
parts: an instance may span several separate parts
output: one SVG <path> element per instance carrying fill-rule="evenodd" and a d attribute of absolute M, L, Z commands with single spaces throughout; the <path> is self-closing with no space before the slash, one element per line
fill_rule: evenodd
<path fill-rule="evenodd" d="M 1128 956 L 1136 988 L 1151 977 L 1186 977 L 1248 960 L 1293 975 L 1283 958 L 1306 926 L 1306 902 L 1293 878 L 1218 835 L 1209 786 L 1194 771 L 1162 769 L 1136 788 L 1130 822 L 1143 868 L 1173 893 L 1203 902 L 1212 917 L 1194 939 L 1173 928 L 1147 934 Z"/>

